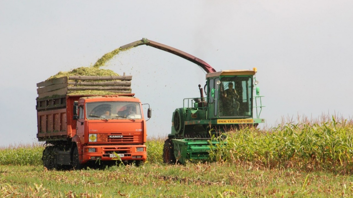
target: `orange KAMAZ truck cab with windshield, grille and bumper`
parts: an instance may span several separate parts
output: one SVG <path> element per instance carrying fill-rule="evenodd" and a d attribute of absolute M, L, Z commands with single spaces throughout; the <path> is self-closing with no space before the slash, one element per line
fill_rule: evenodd
<path fill-rule="evenodd" d="M 74 103 L 79 161 L 145 161 L 146 121 L 138 98 L 92 96 Z"/>

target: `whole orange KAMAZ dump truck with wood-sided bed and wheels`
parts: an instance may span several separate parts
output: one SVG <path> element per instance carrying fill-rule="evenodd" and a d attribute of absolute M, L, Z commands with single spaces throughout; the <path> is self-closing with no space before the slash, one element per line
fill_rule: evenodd
<path fill-rule="evenodd" d="M 37 138 L 47 144 L 44 167 L 146 160 L 146 120 L 142 103 L 131 93 L 131 79 L 69 76 L 37 83 Z M 97 94 L 102 91 L 113 95 Z"/>

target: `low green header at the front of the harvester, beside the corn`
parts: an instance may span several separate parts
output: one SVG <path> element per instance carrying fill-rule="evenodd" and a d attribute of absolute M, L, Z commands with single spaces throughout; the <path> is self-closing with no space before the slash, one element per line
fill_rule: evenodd
<path fill-rule="evenodd" d="M 210 145 L 219 144 L 210 139 L 172 139 L 175 159 L 185 164 L 190 159 L 207 159 L 211 151 Z"/>

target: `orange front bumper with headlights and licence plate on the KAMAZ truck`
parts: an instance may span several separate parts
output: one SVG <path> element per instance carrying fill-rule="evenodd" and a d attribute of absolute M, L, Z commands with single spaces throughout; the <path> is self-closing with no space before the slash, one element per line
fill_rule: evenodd
<path fill-rule="evenodd" d="M 81 163 L 88 161 L 116 160 L 118 155 L 121 161 L 143 161 L 147 159 L 146 145 L 89 145 L 83 146 Z"/>

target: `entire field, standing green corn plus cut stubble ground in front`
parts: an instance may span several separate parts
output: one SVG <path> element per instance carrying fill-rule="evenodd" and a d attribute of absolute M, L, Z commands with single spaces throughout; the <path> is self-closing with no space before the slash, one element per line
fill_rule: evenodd
<path fill-rule="evenodd" d="M 152 138 L 140 167 L 57 171 L 41 145 L 0 148 L 0 197 L 353 197 L 353 124 L 325 119 L 229 132 L 209 162 L 162 163 Z"/>

